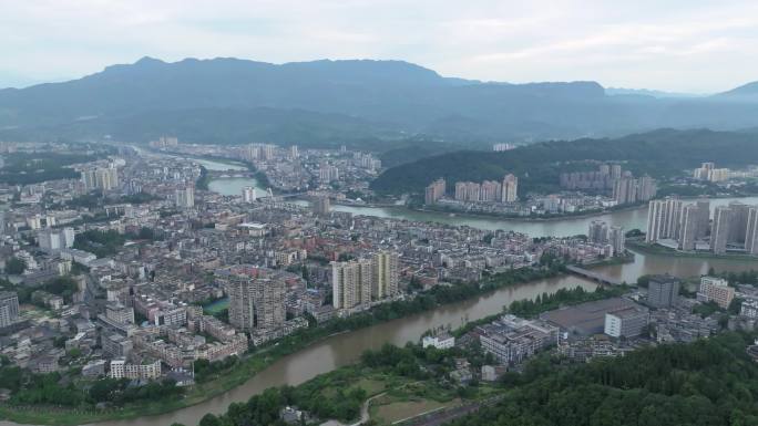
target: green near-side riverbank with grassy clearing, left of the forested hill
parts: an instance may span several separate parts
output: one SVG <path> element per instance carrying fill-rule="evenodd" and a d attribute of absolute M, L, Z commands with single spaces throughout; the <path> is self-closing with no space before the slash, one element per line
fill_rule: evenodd
<path fill-rule="evenodd" d="M 467 332 L 495 320 L 505 312 L 524 318 L 575 305 L 587 301 L 618 297 L 628 291 L 626 287 L 613 289 L 597 288 L 587 292 L 581 287 L 572 290 L 559 290 L 553 295 L 545 295 L 539 301 L 513 301 L 503 311 L 481 320 L 468 322 L 452 330 L 451 334 L 460 337 Z M 329 373 L 318 375 L 291 389 L 268 388 L 264 395 L 280 393 L 280 397 L 270 399 L 276 407 L 254 403 L 257 396 L 247 404 L 240 404 L 215 416 L 206 414 L 204 423 L 212 420 L 240 424 L 242 418 L 260 418 L 262 409 L 278 413 L 285 406 L 297 406 L 318 422 L 337 420 L 339 425 L 358 425 L 367 420 L 380 424 L 395 424 L 427 414 L 429 411 L 451 409 L 464 404 L 475 404 L 490 399 L 505 391 L 496 383 L 479 383 L 477 386 L 449 386 L 445 381 L 447 368 L 440 366 L 452 363 L 454 359 L 467 359 L 469 362 L 482 363 L 482 354 L 472 346 L 457 346 L 447 350 L 422 349 L 417 342 L 403 347 L 383 345 L 380 350 L 365 352 L 354 364 L 339 367 Z M 444 361 L 448 359 L 448 361 Z M 409 389 L 409 392 L 401 392 Z M 389 397 L 379 399 L 382 395 Z M 410 404 L 409 404 L 410 403 Z"/>

